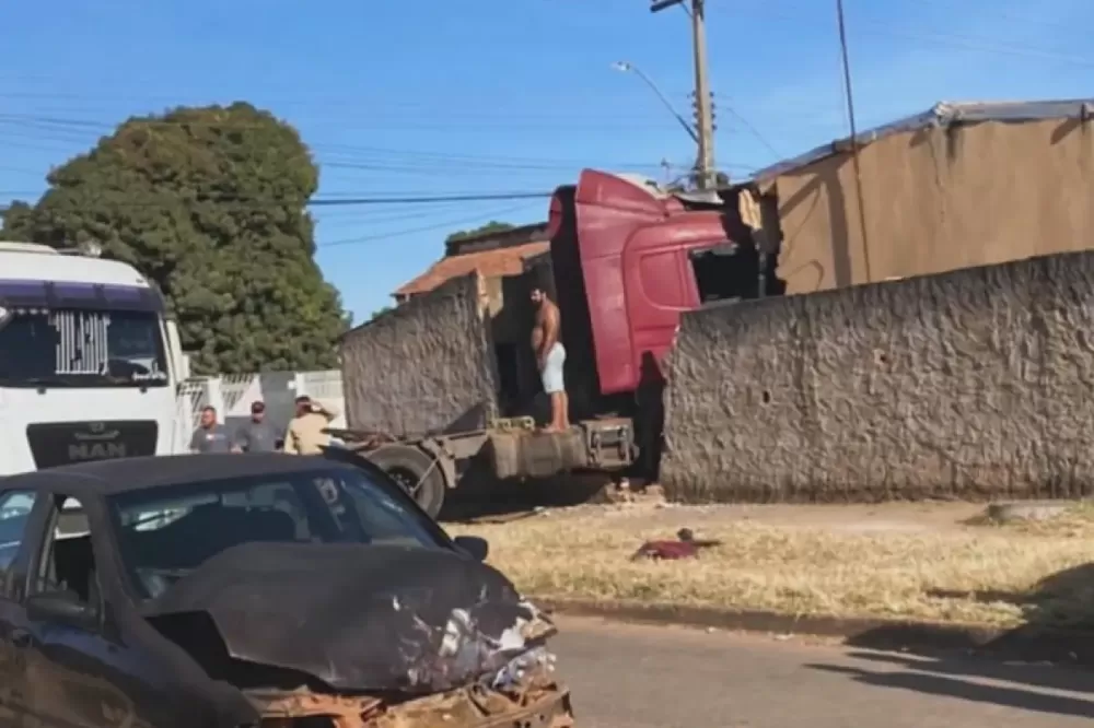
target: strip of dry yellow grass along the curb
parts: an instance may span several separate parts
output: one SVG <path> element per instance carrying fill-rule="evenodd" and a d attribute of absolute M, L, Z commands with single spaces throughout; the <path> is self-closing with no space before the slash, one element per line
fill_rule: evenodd
<path fill-rule="evenodd" d="M 666 512 L 661 512 L 662 514 Z M 688 525 L 583 508 L 503 525 L 452 526 L 490 540 L 490 562 L 528 595 L 675 602 L 789 614 L 1017 625 L 1091 622 L 1094 509 L 1050 522 L 884 532 L 724 519 L 699 560 L 631 562 Z"/>

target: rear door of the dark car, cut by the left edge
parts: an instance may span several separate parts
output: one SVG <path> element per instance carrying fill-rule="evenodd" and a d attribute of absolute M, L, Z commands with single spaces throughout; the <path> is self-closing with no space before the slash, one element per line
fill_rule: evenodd
<path fill-rule="evenodd" d="M 27 669 L 30 631 L 21 603 L 23 576 L 33 532 L 32 513 L 37 493 L 0 493 L 0 725 L 32 726 L 31 674 Z"/>

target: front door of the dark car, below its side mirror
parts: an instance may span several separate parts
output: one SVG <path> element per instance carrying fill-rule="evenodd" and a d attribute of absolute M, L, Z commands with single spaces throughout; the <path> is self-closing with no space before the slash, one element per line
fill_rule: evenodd
<path fill-rule="evenodd" d="M 156 670 L 139 641 L 119 638 L 106 608 L 96 568 L 102 554 L 85 504 L 65 493 L 43 497 L 48 515 L 24 598 L 35 715 L 45 728 L 158 725 L 163 700 L 151 683 Z"/>

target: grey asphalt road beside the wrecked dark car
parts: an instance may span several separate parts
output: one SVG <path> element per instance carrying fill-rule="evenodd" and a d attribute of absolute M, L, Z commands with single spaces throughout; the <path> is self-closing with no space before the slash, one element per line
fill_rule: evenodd
<path fill-rule="evenodd" d="M 560 619 L 579 728 L 1063 728 L 1094 671 Z"/>

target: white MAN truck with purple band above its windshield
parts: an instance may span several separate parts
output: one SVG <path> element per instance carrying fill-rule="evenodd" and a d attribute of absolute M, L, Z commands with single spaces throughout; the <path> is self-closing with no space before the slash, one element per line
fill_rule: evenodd
<path fill-rule="evenodd" d="M 185 451 L 185 376 L 164 298 L 135 268 L 0 242 L 0 475 Z"/>

